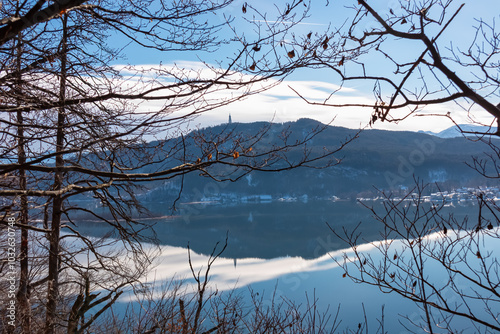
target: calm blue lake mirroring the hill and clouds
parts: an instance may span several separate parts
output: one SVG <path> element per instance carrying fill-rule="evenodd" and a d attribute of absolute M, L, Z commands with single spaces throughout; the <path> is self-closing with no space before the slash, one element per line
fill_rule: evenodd
<path fill-rule="evenodd" d="M 366 202 L 382 210 L 383 202 Z M 148 280 L 162 281 L 171 277 L 190 280 L 187 249 L 189 243 L 193 266 L 206 266 L 217 242 L 228 246 L 211 271 L 211 286 L 220 291 L 236 289 L 249 298 L 249 288 L 260 291 L 271 300 L 286 297 L 304 303 L 306 294 L 319 297 L 322 310 L 335 313 L 340 305 L 340 328 L 357 328 L 369 319 L 369 333 L 376 332 L 384 307 L 385 329 L 390 333 L 407 333 L 402 316 L 418 321 L 422 312 L 413 303 L 395 294 L 386 294 L 377 287 L 359 285 L 344 278 L 344 270 L 334 259 L 349 252 L 347 245 L 336 238 L 327 223 L 340 230 L 352 231 L 358 226 L 365 243 L 380 240 L 381 224 L 360 203 L 351 201 L 295 201 L 267 203 L 180 204 L 180 215 L 172 215 L 167 205 L 150 203 L 152 217 L 162 255 Z M 458 219 L 474 214 L 473 202 L 454 205 L 443 212 Z M 155 218 L 162 217 L 162 218 Z M 95 222 L 82 222 L 88 235 L 103 235 L 107 228 Z M 370 245 L 363 246 L 374 258 L 380 256 Z M 442 278 L 437 278 L 442 279 Z M 363 311 L 363 309 L 365 311 Z M 464 323 L 465 326 L 465 323 Z M 464 327 L 465 328 L 465 327 Z M 418 332 L 418 330 L 416 331 Z"/>

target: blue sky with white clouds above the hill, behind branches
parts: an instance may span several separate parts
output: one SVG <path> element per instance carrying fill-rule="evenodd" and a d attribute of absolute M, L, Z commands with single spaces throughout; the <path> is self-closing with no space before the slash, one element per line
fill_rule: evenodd
<path fill-rule="evenodd" d="M 346 17 L 352 13 L 352 10 L 346 8 L 346 5 L 354 1 L 330 1 L 327 6 L 327 1 L 313 1 L 309 16 L 305 18 L 300 25 L 296 27 L 298 35 L 305 35 L 308 32 L 321 33 L 325 31 L 329 25 L 338 25 L 346 20 Z M 261 13 L 269 13 L 272 17 L 276 13 L 278 7 L 273 1 L 255 0 L 249 2 L 250 5 L 257 8 Z M 277 3 L 283 4 L 284 1 Z M 440 37 L 441 51 L 446 51 L 445 48 L 450 43 L 454 46 L 466 48 L 470 41 L 474 38 L 474 29 L 477 24 L 476 18 L 483 18 L 486 22 L 493 22 L 499 18 L 500 2 L 498 0 L 464 0 L 455 1 L 457 8 L 461 3 L 465 6 L 456 20 L 452 23 L 442 37 Z M 236 29 L 245 30 L 244 18 L 251 18 L 242 13 L 244 1 L 235 1 L 229 7 L 224 9 L 223 14 L 228 17 L 234 17 L 234 27 Z M 400 10 L 398 1 L 370 1 L 370 4 L 375 7 L 379 13 L 389 15 L 389 10 L 396 13 Z M 224 18 L 216 16 L 215 22 L 223 22 Z M 366 26 L 376 25 L 373 21 L 367 21 Z M 221 33 L 227 33 L 221 30 Z M 247 37 L 251 36 L 251 32 L 246 32 Z M 432 32 L 431 32 L 432 35 Z M 396 57 L 408 57 L 413 59 L 411 51 L 414 51 L 414 45 L 401 44 L 397 42 L 394 45 L 394 50 L 391 50 Z M 125 50 L 128 54 L 126 61 L 134 65 L 155 66 L 154 64 L 160 61 L 163 64 L 183 64 L 186 68 L 192 66 L 197 68 L 200 66 L 199 59 L 203 59 L 210 64 L 215 64 L 217 60 L 224 59 L 225 55 L 234 53 L 231 49 L 222 49 L 221 52 L 215 53 L 181 53 L 171 52 L 165 55 L 148 52 L 147 54 L 138 54 L 134 46 L 131 45 Z M 418 53 L 419 54 L 419 53 Z M 167 56 L 167 58 L 165 58 Z M 416 55 L 418 56 L 418 55 Z M 415 57 L 416 57 L 415 56 Z M 406 58 L 405 58 L 406 59 Z M 384 64 L 381 59 L 365 60 L 367 68 L 375 68 L 380 71 L 393 71 L 394 69 Z M 463 72 L 463 75 L 469 73 Z M 211 110 L 199 116 L 192 124 L 198 126 L 209 126 L 227 122 L 229 114 L 232 116 L 233 122 L 252 122 L 252 121 L 273 121 L 286 122 L 293 121 L 299 118 L 308 117 L 319 120 L 323 123 L 333 121 L 333 125 L 344 126 L 349 128 L 363 128 L 368 125 L 371 118 L 372 109 L 360 108 L 332 108 L 326 106 L 317 106 L 308 104 L 304 99 L 297 95 L 296 92 L 305 97 L 308 101 L 321 102 L 326 99 L 333 90 L 336 90 L 340 84 L 339 77 L 335 76 L 332 71 L 328 70 L 312 70 L 301 69 L 289 75 L 283 82 L 276 87 L 271 88 L 261 94 L 248 97 L 242 101 L 230 104 L 223 108 Z M 336 93 L 332 100 L 333 103 L 344 102 L 366 102 L 373 103 L 375 101 L 373 95 L 373 83 L 366 82 L 350 82 L 344 85 L 344 88 Z M 221 97 L 224 92 L 219 93 Z M 152 105 L 144 103 L 141 108 L 152 108 Z M 378 129 L 389 130 L 410 130 L 410 131 L 432 131 L 439 132 L 453 125 L 453 123 L 443 115 L 451 112 L 454 120 L 459 124 L 481 122 L 482 124 L 490 124 L 492 118 L 480 110 L 473 107 L 470 113 L 465 112 L 455 103 L 445 105 L 429 106 L 424 109 L 424 113 L 439 114 L 438 117 L 410 117 L 399 123 L 376 123 L 373 127 Z"/>

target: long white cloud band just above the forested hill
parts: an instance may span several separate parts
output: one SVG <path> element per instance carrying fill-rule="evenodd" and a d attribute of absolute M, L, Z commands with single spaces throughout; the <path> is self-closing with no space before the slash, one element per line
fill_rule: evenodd
<path fill-rule="evenodd" d="M 117 67 L 119 68 L 119 67 Z M 178 61 L 175 64 L 165 65 L 140 65 L 134 68 L 120 68 L 124 74 L 130 75 L 135 84 L 140 85 L 140 79 L 133 79 L 134 71 L 139 71 L 147 76 L 154 77 L 158 84 L 171 82 L 173 76 L 201 77 L 210 79 L 214 77 L 215 68 L 209 64 L 195 61 Z M 222 70 L 221 70 L 222 71 Z M 217 72 L 217 70 L 216 70 Z M 149 73 L 149 74 L 148 74 Z M 169 75 L 171 73 L 172 75 Z M 238 72 L 231 72 L 230 78 L 238 81 L 241 79 L 250 79 L 250 75 Z M 272 88 L 256 95 L 250 95 L 242 100 L 228 104 L 226 106 L 213 109 L 201 114 L 192 126 L 209 126 L 225 123 L 229 114 L 232 115 L 234 122 L 255 122 L 255 121 L 274 121 L 286 122 L 294 121 L 299 118 L 313 118 L 323 123 L 331 122 L 335 119 L 334 125 L 348 128 L 362 128 L 367 126 L 371 119 L 372 109 L 362 107 L 329 107 L 322 105 L 313 105 L 309 102 L 322 103 L 328 99 L 329 104 L 367 104 L 374 102 L 371 92 L 365 92 L 363 87 L 340 87 L 335 83 L 312 80 L 284 80 L 277 84 L 276 80 L 268 80 L 265 83 L 254 85 L 255 89 L 261 89 L 265 85 Z M 277 84 L 277 85 L 276 85 Z M 331 95 L 332 92 L 335 94 Z M 217 99 L 231 99 L 239 96 L 243 90 L 215 90 L 207 95 L 212 101 Z M 301 96 L 299 96 L 298 94 Z M 165 101 L 144 102 L 139 106 L 139 111 L 151 112 L 158 110 L 165 105 Z M 175 115 L 187 113 L 192 110 L 187 107 L 185 110 L 177 109 Z M 404 121 L 398 123 L 376 122 L 374 128 L 387 130 L 409 130 L 409 131 L 434 131 L 438 132 L 453 126 L 453 123 L 446 117 L 448 112 L 459 124 L 478 121 L 482 123 L 491 123 L 491 117 L 480 108 L 473 108 L 469 112 L 461 109 L 455 103 L 427 106 L 419 115 L 431 115 L 425 117 L 410 116 Z M 408 110 L 394 112 L 394 117 L 404 117 Z M 438 116 L 437 116 L 438 115 Z"/>

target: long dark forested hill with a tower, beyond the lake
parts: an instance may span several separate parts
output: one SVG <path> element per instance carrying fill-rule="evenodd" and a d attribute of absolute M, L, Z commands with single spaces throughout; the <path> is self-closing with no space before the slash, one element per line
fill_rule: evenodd
<path fill-rule="evenodd" d="M 251 136 L 268 127 L 259 145 L 260 148 L 269 148 L 276 144 L 273 138 L 279 137 L 277 134 L 289 133 L 289 140 L 293 142 L 322 126 L 324 125 L 311 119 L 279 124 L 233 123 L 197 130 L 196 134 L 206 137 L 227 133 Z M 341 159 L 341 163 L 336 166 L 325 169 L 297 168 L 279 173 L 252 172 L 238 182 L 228 183 L 217 183 L 211 178 L 189 174 L 184 179 L 181 198 L 183 201 L 256 195 L 267 196 L 263 198 L 304 195 L 355 198 L 376 196 L 375 188 L 404 191 L 414 185 L 415 179 L 434 183 L 441 190 L 497 183 L 496 180 L 485 179 L 470 167 L 474 157 L 488 159 L 487 154 L 491 152 L 491 148 L 485 142 L 464 137 L 448 138 L 444 135 L 373 129 L 358 133 L 353 129 L 327 126 L 308 141 L 307 147 L 312 152 L 333 150 L 354 136 L 358 138 L 335 155 L 337 159 Z M 292 150 L 288 154 L 293 158 L 300 154 L 300 150 Z M 321 162 L 317 164 L 320 165 Z M 143 194 L 143 198 L 146 201 L 171 201 L 178 196 L 179 189 L 180 179 L 154 183 Z"/>

